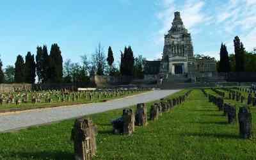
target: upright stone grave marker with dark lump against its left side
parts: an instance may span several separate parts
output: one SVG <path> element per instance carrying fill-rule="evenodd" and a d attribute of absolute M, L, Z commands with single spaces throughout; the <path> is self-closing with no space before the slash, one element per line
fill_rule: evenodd
<path fill-rule="evenodd" d="M 124 134 L 132 134 L 134 132 L 134 113 L 132 109 L 124 109 L 123 110 L 123 120 L 124 120 Z"/>

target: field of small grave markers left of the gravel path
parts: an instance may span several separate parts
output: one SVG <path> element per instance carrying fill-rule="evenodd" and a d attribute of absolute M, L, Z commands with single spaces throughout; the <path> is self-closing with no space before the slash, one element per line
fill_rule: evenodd
<path fill-rule="evenodd" d="M 130 93 L 143 92 L 143 89 L 137 90 L 113 90 L 113 91 L 98 91 L 98 92 L 15 92 L 15 93 L 0 93 L 0 105 L 3 104 L 22 104 L 31 102 L 33 104 L 40 102 L 76 102 L 79 99 L 94 100 L 115 98 L 129 95 Z M 55 100 L 53 100 L 55 99 Z"/>

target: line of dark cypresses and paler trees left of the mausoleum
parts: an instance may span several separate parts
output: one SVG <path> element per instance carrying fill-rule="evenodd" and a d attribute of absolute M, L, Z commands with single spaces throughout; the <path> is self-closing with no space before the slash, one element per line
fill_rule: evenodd
<path fill-rule="evenodd" d="M 115 65 L 115 58 L 111 47 L 108 55 L 99 44 L 92 59 L 86 54 L 81 56 L 81 63 L 63 62 L 58 44 L 52 44 L 48 52 L 47 46 L 36 47 L 36 55 L 28 52 L 24 58 L 19 54 L 15 66 L 8 65 L 3 69 L 0 60 L 0 83 L 89 83 L 90 75 L 132 76 L 143 78 L 145 58 L 134 58 L 131 46 L 125 47 L 120 53 L 120 64 Z M 38 81 L 36 81 L 38 79 Z"/>

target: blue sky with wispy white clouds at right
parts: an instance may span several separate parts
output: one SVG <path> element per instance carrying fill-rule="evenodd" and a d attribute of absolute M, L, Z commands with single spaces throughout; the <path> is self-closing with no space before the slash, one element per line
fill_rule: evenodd
<path fill-rule="evenodd" d="M 131 45 L 134 56 L 161 58 L 164 34 L 179 11 L 195 54 L 219 59 L 221 42 L 234 52 L 234 36 L 246 51 L 256 47 L 256 0 L 8 0 L 0 3 L 0 54 L 4 67 L 36 47 L 60 46 L 64 61 L 90 60 L 100 43 L 111 46 L 115 63 Z"/>

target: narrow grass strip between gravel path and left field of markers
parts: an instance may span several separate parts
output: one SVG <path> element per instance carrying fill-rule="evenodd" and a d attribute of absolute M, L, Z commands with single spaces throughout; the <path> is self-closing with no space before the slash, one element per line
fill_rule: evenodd
<path fill-rule="evenodd" d="M 148 92 L 148 91 L 144 91 L 144 92 Z M 52 107 L 58 107 L 58 106 L 68 106 L 68 105 L 74 105 L 74 104 L 86 104 L 86 103 L 94 103 L 94 102 L 103 102 L 104 100 L 111 100 L 111 99 L 120 99 L 123 97 L 127 97 L 130 95 L 136 95 L 139 93 L 143 93 L 143 92 L 134 92 L 134 93 L 128 93 L 126 95 L 118 95 L 117 97 L 106 97 L 106 98 L 101 98 L 101 99 L 85 99 L 85 98 L 80 98 L 78 100 L 75 100 L 74 102 L 72 102 L 72 100 L 70 100 L 69 102 L 57 102 L 56 97 L 52 96 L 52 102 L 47 103 L 47 102 L 40 102 L 40 103 L 22 103 L 19 105 L 16 104 L 2 104 L 0 105 L 0 111 L 4 111 L 4 110 L 8 110 L 8 109 L 22 109 L 22 110 L 26 110 L 26 109 L 36 109 L 36 108 L 52 108 Z M 30 99 L 29 99 L 30 100 Z"/>

